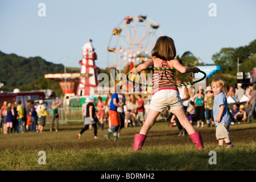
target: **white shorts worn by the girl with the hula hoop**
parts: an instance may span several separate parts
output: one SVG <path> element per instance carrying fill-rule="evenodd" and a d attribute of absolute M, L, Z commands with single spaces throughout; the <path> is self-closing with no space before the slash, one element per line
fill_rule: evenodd
<path fill-rule="evenodd" d="M 162 112 L 166 107 L 168 110 L 177 110 L 183 107 L 179 93 L 176 90 L 159 90 L 152 96 L 150 109 Z"/>

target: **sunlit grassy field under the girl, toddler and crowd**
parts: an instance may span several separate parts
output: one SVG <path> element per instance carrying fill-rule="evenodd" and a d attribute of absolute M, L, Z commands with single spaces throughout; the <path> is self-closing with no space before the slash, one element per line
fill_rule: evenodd
<path fill-rule="evenodd" d="M 157 122 L 150 130 L 142 151 L 133 152 L 134 134 L 141 127 L 122 129 L 118 141 L 108 141 L 104 131 L 98 130 L 98 139 L 93 130 L 87 130 L 78 140 L 76 135 L 82 123 L 59 126 L 59 131 L 43 133 L 0 134 L 1 171 L 233 171 L 256 169 L 256 122 L 230 126 L 230 139 L 235 148 L 216 151 L 216 164 L 209 164 L 210 151 L 217 146 L 215 127 L 201 131 L 204 150 L 197 151 L 187 135 L 178 137 L 177 127 L 168 127 L 166 122 Z M 46 152 L 46 164 L 39 164 Z"/>

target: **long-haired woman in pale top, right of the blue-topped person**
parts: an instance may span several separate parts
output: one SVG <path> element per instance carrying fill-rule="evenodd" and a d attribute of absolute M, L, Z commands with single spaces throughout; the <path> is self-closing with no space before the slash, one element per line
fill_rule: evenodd
<path fill-rule="evenodd" d="M 126 121 L 131 120 L 131 126 L 136 126 L 137 120 L 137 108 L 138 108 L 138 101 L 134 94 L 130 94 L 129 100 L 127 101 L 127 113 L 126 113 Z M 126 127 L 128 126 L 129 122 L 126 122 Z"/>

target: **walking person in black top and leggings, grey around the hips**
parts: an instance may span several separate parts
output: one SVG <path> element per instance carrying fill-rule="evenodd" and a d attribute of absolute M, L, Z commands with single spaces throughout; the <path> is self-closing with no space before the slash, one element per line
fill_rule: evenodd
<path fill-rule="evenodd" d="M 93 126 L 94 130 L 94 139 L 98 139 L 97 137 L 97 116 L 96 111 L 94 107 L 94 102 L 96 101 L 96 98 L 94 96 L 89 97 L 90 102 L 86 105 L 86 113 L 84 117 L 84 128 L 80 131 L 79 134 L 77 134 L 77 138 L 80 140 L 82 133 L 84 133 L 86 130 L 88 130 L 89 125 Z"/>

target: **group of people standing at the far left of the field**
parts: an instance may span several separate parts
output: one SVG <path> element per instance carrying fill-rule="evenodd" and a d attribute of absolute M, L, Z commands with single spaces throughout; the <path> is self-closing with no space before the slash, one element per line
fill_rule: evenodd
<path fill-rule="evenodd" d="M 60 106 L 61 101 L 56 100 L 52 102 L 52 116 L 51 116 L 51 129 L 56 123 L 55 131 L 58 130 L 58 112 L 57 108 Z M 3 134 L 9 133 L 24 133 L 24 132 L 40 132 L 44 131 L 46 125 L 46 106 L 43 100 L 34 103 L 34 101 L 27 100 L 23 105 L 21 101 L 14 103 L 3 102 L 0 109 L 0 127 Z"/>

